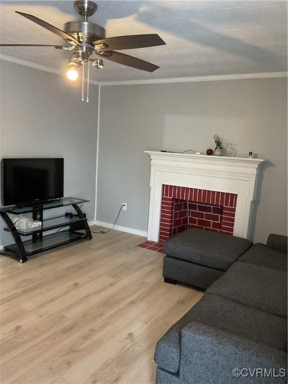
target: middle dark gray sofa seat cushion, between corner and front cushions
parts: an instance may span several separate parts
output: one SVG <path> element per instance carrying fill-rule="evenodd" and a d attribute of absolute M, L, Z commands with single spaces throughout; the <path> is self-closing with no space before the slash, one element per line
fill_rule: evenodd
<path fill-rule="evenodd" d="M 236 261 L 207 292 L 278 316 L 287 316 L 286 272 Z"/>

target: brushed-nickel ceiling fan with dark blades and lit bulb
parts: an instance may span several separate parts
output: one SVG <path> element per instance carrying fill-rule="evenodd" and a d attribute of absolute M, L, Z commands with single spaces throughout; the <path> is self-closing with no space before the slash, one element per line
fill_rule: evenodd
<path fill-rule="evenodd" d="M 63 30 L 31 14 L 15 11 L 21 16 L 62 37 L 69 45 L 0 44 L 0 46 L 51 46 L 56 49 L 73 51 L 68 59 L 66 75 L 70 80 L 76 80 L 78 78 L 76 68 L 82 66 L 82 100 L 85 63 L 87 63 L 88 66 L 88 77 L 89 63 L 92 62 L 95 68 L 102 68 L 102 58 L 147 72 L 153 72 L 159 68 L 159 66 L 150 62 L 115 51 L 164 45 L 165 42 L 158 34 L 135 34 L 106 38 L 106 30 L 102 26 L 87 21 L 87 17 L 96 11 L 96 3 L 90 0 L 75 0 L 74 9 L 80 15 L 84 16 L 84 20 L 68 21 L 64 24 Z M 95 58 L 90 57 L 93 53 L 96 55 Z"/>

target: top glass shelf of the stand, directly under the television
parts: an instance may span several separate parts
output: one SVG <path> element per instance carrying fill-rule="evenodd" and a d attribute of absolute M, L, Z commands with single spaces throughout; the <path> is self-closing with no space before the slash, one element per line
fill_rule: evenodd
<path fill-rule="evenodd" d="M 32 212 L 35 208 L 41 208 L 44 210 L 44 209 L 57 208 L 60 206 L 66 206 L 66 205 L 72 205 L 72 204 L 82 204 L 88 201 L 89 200 L 83 200 L 81 198 L 76 198 L 76 197 L 63 197 L 57 200 L 46 201 L 43 203 L 37 203 L 33 205 L 23 205 L 23 206 L 12 205 L 7 207 L 1 207 L 0 211 L 6 212 L 6 213 L 21 214 L 21 213 Z"/>

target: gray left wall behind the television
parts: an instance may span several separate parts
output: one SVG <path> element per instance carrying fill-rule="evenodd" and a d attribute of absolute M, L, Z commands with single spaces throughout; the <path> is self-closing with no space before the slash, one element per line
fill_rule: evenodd
<path fill-rule="evenodd" d="M 98 87 L 81 102 L 79 83 L 3 60 L 0 87 L 0 156 L 64 157 L 64 195 L 91 200 L 83 209 L 93 220 Z M 6 244 L 11 236 L 0 225 Z"/>

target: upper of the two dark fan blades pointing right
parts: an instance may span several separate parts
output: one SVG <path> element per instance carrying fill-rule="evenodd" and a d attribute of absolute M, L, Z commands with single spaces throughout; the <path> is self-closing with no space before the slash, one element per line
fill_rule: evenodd
<path fill-rule="evenodd" d="M 102 38 L 101 40 L 93 41 L 93 45 L 96 44 L 107 45 L 106 48 L 101 48 L 101 50 L 105 51 L 114 49 L 145 48 L 147 46 L 164 45 L 166 43 L 158 34 L 132 34 L 128 36 Z"/>

